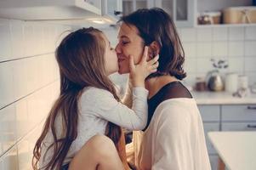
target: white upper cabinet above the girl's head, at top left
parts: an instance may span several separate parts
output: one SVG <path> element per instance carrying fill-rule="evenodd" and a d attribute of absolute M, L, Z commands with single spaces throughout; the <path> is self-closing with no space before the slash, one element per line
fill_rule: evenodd
<path fill-rule="evenodd" d="M 117 21 L 122 0 L 9 0 L 0 1 L 0 18 L 47 20 L 81 26 L 90 20 Z"/>

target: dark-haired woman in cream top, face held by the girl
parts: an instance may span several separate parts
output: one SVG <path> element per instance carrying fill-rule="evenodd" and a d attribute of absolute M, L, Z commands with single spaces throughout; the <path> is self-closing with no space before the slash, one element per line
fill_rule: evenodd
<path fill-rule="evenodd" d="M 174 21 L 161 8 L 139 9 L 120 21 L 116 47 L 120 74 L 129 72 L 129 55 L 139 62 L 145 46 L 149 46 L 149 59 L 159 54 L 156 73 L 145 80 L 147 126 L 144 133 L 134 132 L 128 161 L 143 170 L 210 169 L 200 112 L 180 82 L 186 77 L 185 54 Z M 124 103 L 131 106 L 129 94 L 128 88 Z"/>

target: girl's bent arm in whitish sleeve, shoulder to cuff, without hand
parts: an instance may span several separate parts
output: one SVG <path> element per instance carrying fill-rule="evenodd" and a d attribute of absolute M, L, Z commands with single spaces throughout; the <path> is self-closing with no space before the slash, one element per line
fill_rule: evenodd
<path fill-rule="evenodd" d="M 141 130 L 147 122 L 147 96 L 145 88 L 133 88 L 133 107 L 118 102 L 114 96 L 103 89 L 90 88 L 82 95 L 82 114 L 99 116 L 129 130 Z"/>

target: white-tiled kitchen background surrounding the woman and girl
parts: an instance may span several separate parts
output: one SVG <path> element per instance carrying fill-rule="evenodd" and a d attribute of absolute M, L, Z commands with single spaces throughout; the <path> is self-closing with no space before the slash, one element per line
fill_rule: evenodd
<path fill-rule="evenodd" d="M 253 9 L 239 18 L 244 6 Z M 227 168 L 239 169 L 222 157 L 218 141 L 213 142 L 218 137 L 210 141 L 208 132 L 256 129 L 254 0 L 0 2 L 0 169 L 31 169 L 35 141 L 59 92 L 54 50 L 61 38 L 69 30 L 94 26 L 115 47 L 118 18 L 151 7 L 172 14 L 178 26 L 185 48 L 183 82 L 201 111 L 212 169 L 221 168 L 223 161 Z M 123 94 L 127 77 L 112 79 Z M 239 156 L 234 159 L 239 162 Z"/>

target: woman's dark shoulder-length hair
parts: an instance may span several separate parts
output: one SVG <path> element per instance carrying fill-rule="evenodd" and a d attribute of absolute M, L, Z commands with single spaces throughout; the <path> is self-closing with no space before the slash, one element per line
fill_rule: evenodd
<path fill-rule="evenodd" d="M 123 16 L 122 21 L 135 26 L 145 45 L 156 41 L 160 46 L 159 66 L 157 72 L 150 77 L 171 75 L 179 80 L 186 77 L 183 69 L 185 61 L 184 49 L 171 16 L 162 8 L 141 8 L 132 14 Z"/>

